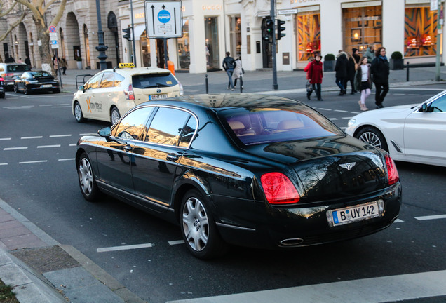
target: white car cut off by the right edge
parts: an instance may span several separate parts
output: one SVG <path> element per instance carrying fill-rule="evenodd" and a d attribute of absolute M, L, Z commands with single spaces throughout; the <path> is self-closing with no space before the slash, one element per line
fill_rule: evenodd
<path fill-rule="evenodd" d="M 385 149 L 394 160 L 446 166 L 446 90 L 419 105 L 358 114 L 346 133 Z"/>

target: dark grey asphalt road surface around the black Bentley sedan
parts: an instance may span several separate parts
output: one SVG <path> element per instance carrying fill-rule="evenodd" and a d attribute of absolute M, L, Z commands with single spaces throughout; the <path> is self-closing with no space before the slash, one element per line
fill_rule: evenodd
<path fill-rule="evenodd" d="M 418 103 L 443 89 L 393 88 L 384 105 Z M 304 93 L 283 96 L 305 100 Z M 358 95 L 327 92 L 323 98 L 305 102 L 341 128 L 360 112 Z M 179 242 L 174 225 L 113 198 L 98 203 L 83 199 L 74 163 L 76 141 L 109 124 L 76 123 L 71 100 L 72 95 L 63 93 L 11 92 L 0 100 L 0 198 L 147 302 L 446 270 L 445 219 L 430 217 L 446 214 L 445 170 L 403 162 L 397 162 L 404 203 L 400 220 L 384 231 L 285 252 L 232 248 L 222 259 L 196 260 Z M 145 247 L 127 247 L 140 244 Z M 443 296 L 423 302 L 445 300 Z"/>

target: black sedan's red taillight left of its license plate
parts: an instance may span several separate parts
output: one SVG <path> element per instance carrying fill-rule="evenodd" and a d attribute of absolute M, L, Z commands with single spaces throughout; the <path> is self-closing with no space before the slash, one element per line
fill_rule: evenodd
<path fill-rule="evenodd" d="M 283 205 L 298 203 L 296 187 L 283 173 L 266 173 L 260 177 L 266 200 L 270 204 Z"/>

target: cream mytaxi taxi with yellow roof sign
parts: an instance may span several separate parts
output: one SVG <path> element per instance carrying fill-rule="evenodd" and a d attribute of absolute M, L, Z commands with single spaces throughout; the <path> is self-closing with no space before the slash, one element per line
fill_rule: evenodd
<path fill-rule="evenodd" d="M 170 70 L 120 63 L 79 86 L 74 93 L 72 113 L 79 123 L 95 119 L 114 124 L 135 105 L 180 95 L 183 87 Z"/>

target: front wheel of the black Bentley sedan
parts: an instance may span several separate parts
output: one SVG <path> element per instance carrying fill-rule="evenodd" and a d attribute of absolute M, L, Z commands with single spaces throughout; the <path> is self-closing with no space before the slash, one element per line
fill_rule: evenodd
<path fill-rule="evenodd" d="M 83 197 L 88 201 L 95 201 L 100 196 L 100 189 L 97 187 L 93 168 L 86 153 L 82 153 L 79 157 L 77 173 Z"/>

